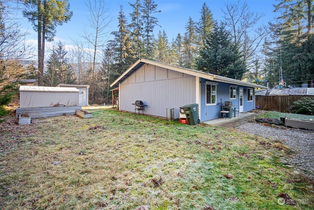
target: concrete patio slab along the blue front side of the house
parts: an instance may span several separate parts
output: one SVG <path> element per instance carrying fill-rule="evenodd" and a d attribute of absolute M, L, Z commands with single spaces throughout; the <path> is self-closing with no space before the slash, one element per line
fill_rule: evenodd
<path fill-rule="evenodd" d="M 233 128 L 240 124 L 243 124 L 244 122 L 252 120 L 253 118 L 259 115 L 260 115 L 259 113 L 242 112 L 242 113 L 239 113 L 239 116 L 236 116 L 235 118 L 231 118 L 231 119 L 217 118 L 214 120 L 205 121 L 203 123 L 214 125 L 214 126 Z"/>

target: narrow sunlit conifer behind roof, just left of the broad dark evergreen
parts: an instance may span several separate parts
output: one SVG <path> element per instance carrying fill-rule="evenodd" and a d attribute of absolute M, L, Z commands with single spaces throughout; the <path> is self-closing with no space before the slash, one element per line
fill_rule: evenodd
<path fill-rule="evenodd" d="M 196 26 L 195 22 L 189 17 L 187 24 L 185 25 L 185 33 L 183 39 L 183 49 L 184 49 L 184 64 L 185 68 L 193 68 L 195 64 L 195 59 L 197 56 L 198 45 L 196 36 Z"/>

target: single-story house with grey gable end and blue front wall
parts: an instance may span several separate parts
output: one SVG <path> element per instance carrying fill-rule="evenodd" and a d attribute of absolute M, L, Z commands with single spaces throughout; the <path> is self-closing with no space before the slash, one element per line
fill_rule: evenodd
<path fill-rule="evenodd" d="M 166 118 L 173 108 L 179 118 L 180 107 L 196 103 L 201 122 L 219 117 L 220 102 L 231 101 L 239 112 L 254 109 L 255 88 L 267 88 L 146 59 L 137 60 L 110 87 L 119 88 L 120 110 L 134 112 L 132 104 L 141 100 L 147 115 Z"/>

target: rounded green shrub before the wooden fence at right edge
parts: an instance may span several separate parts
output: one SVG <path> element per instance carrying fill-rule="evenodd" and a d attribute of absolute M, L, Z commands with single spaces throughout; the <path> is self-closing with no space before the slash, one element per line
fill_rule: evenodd
<path fill-rule="evenodd" d="M 303 97 L 294 101 L 290 111 L 295 114 L 314 115 L 314 98 Z"/>

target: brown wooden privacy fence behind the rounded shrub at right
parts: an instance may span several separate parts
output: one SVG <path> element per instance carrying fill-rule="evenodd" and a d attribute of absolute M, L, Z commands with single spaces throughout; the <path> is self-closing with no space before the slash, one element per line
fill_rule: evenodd
<path fill-rule="evenodd" d="M 255 104 L 262 110 L 287 113 L 293 102 L 303 97 L 312 98 L 313 95 L 256 95 Z"/>

